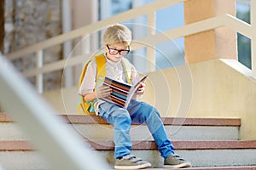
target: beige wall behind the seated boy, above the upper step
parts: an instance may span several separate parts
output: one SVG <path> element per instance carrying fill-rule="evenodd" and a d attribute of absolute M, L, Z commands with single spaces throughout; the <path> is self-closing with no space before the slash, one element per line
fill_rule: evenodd
<path fill-rule="evenodd" d="M 241 118 L 241 139 L 256 139 L 256 82 L 247 72 L 236 59 L 228 59 L 227 64 L 212 59 L 151 72 L 143 100 L 161 116 Z M 76 90 L 58 90 L 44 97 L 57 111 L 77 114 Z"/>

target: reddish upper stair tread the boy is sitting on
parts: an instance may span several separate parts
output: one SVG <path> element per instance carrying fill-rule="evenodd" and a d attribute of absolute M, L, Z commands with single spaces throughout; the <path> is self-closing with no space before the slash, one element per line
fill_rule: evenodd
<path fill-rule="evenodd" d="M 108 124 L 100 116 L 61 115 L 67 123 L 72 124 Z M 191 117 L 162 117 L 165 125 L 183 126 L 232 126 L 240 127 L 240 118 L 191 118 Z M 0 122 L 12 122 L 9 116 L 0 112 Z"/>

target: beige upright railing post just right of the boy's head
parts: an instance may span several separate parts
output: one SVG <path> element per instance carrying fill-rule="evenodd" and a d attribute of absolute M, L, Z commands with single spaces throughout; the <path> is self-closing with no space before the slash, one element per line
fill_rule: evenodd
<path fill-rule="evenodd" d="M 147 36 L 155 34 L 155 27 L 156 27 L 156 17 L 155 11 L 154 13 L 150 13 L 147 15 Z M 149 42 L 150 43 L 150 42 Z M 154 47 L 147 46 L 147 71 L 155 71 L 155 45 L 150 44 Z"/>

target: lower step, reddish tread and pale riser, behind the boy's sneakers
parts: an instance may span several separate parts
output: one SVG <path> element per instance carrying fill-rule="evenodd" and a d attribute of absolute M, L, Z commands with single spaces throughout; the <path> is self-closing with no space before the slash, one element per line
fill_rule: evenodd
<path fill-rule="evenodd" d="M 113 142 L 90 141 L 95 154 L 106 159 L 113 166 Z M 255 141 L 172 141 L 177 154 L 190 161 L 193 167 L 234 167 L 256 166 Z M 160 156 L 154 141 L 133 141 L 132 154 L 150 161 L 153 167 L 162 167 Z M 15 159 L 18 158 L 19 159 Z M 34 156 L 31 159 L 31 156 Z M 11 161 L 8 159 L 11 159 Z M 48 167 L 44 159 L 26 141 L 0 141 L 0 162 L 3 167 L 19 167 L 32 163 L 32 167 L 39 163 L 41 169 Z M 32 162 L 33 160 L 33 162 Z M 18 162 L 16 162 L 18 161 Z M 29 162 L 27 162 L 29 161 Z M 18 164 L 18 165 L 16 165 Z"/>

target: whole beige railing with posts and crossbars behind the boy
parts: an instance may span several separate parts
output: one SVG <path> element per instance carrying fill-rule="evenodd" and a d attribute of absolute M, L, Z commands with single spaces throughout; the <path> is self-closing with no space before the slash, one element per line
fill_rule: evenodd
<path fill-rule="evenodd" d="M 43 65 L 43 58 L 44 58 L 44 49 L 54 47 L 58 44 L 63 44 L 65 42 L 71 41 L 74 38 L 77 37 L 87 37 L 90 35 L 90 33 L 94 31 L 100 31 L 104 27 L 109 26 L 113 23 L 117 22 L 124 22 L 126 20 L 135 19 L 137 17 L 146 15 L 147 16 L 147 26 L 148 27 L 155 27 L 155 13 L 156 11 L 168 8 L 173 5 L 176 5 L 178 3 L 183 3 L 186 0 L 158 0 L 154 1 L 153 3 L 148 3 L 146 5 L 143 5 L 138 8 L 133 8 L 125 13 L 115 15 L 107 20 L 100 20 L 93 25 L 90 26 L 84 26 L 77 30 L 73 30 L 70 32 L 67 32 L 65 34 L 61 34 L 60 36 L 49 38 L 48 40 L 44 42 L 38 42 L 30 47 L 20 49 L 14 53 L 7 54 L 8 58 L 10 60 L 19 59 L 27 54 L 36 54 L 38 65 L 37 68 L 34 68 L 29 71 L 23 71 L 22 74 L 25 77 L 37 77 L 36 78 L 36 85 L 38 88 L 38 92 L 43 92 L 43 74 L 48 73 L 51 71 L 58 71 L 61 69 L 64 69 L 65 66 L 73 66 L 73 65 L 79 65 L 84 62 L 84 54 L 77 55 L 76 57 L 73 57 L 72 59 L 69 59 L 67 62 L 67 59 L 61 59 L 59 61 L 56 61 L 54 63 L 50 63 L 47 65 Z M 256 21 L 255 21 L 255 8 L 256 8 L 256 2 L 251 1 L 251 24 L 247 24 L 246 22 L 237 19 L 236 17 L 230 15 L 230 14 L 224 14 L 221 16 L 216 16 L 207 20 L 201 20 L 186 26 L 177 27 L 175 29 L 165 31 L 164 34 L 168 37 L 172 37 L 173 39 L 178 37 L 186 37 L 201 31 L 208 31 L 212 30 L 221 26 L 228 26 L 234 31 L 237 31 L 241 33 L 242 35 L 248 37 L 251 39 L 252 42 L 252 77 L 256 78 L 256 59 L 255 58 L 255 51 L 256 51 Z M 132 49 L 137 48 L 147 48 L 147 71 L 154 71 L 154 68 L 152 67 L 152 64 L 149 62 L 154 61 L 154 47 L 156 43 L 159 42 L 165 42 L 166 37 L 162 37 L 162 34 L 156 34 L 155 32 L 152 32 L 152 30 L 148 29 L 146 37 L 143 37 L 141 39 L 138 39 L 136 41 L 144 42 L 141 44 L 135 45 Z M 152 42 L 151 47 L 146 47 L 142 44 L 147 44 L 147 42 Z M 90 47 L 88 44 L 84 43 L 84 51 L 89 51 Z M 151 65 L 151 66 L 150 66 Z"/>

